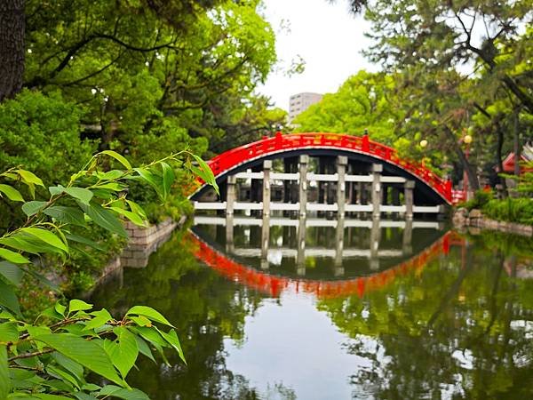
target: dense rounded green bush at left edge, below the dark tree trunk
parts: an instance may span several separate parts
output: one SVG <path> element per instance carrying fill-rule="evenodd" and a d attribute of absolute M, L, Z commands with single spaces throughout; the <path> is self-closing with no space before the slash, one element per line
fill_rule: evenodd
<path fill-rule="evenodd" d="M 59 93 L 24 90 L 15 99 L 2 102 L 0 171 L 20 165 L 47 184 L 68 182 L 76 166 L 84 164 L 96 148 L 94 143 L 80 140 L 81 116 L 83 110 Z M 24 219 L 20 210 L 0 198 L 0 232 Z"/>

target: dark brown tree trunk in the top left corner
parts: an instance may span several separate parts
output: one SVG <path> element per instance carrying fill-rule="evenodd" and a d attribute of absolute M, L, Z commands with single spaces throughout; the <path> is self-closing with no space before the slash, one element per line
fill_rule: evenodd
<path fill-rule="evenodd" d="M 0 1 L 0 101 L 22 88 L 25 0 Z"/>

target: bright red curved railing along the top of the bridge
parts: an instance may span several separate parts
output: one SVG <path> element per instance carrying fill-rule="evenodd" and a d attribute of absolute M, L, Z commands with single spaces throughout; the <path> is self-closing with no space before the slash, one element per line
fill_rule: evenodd
<path fill-rule="evenodd" d="M 370 140 L 367 135 L 352 136 L 341 133 L 290 133 L 277 132 L 273 138 L 264 138 L 215 156 L 208 164 L 215 177 L 240 164 L 263 156 L 302 148 L 337 148 L 373 156 L 410 172 L 433 188 L 448 203 L 451 203 L 451 181 L 443 180 L 424 165 L 398 156 L 394 148 Z"/>

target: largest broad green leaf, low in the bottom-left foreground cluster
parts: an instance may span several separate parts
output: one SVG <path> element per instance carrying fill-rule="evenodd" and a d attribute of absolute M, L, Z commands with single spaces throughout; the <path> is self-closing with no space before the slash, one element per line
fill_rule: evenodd
<path fill-rule="evenodd" d="M 117 385 L 126 386 L 113 368 L 107 353 L 93 340 L 84 340 L 70 333 L 42 334 L 34 339 L 44 342 L 76 363 L 84 365 L 92 372 L 98 373 Z"/>

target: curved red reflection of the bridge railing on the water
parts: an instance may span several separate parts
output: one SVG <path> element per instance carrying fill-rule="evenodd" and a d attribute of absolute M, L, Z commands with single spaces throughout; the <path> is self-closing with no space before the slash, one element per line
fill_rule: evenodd
<path fill-rule="evenodd" d="M 268 293 L 273 297 L 278 297 L 283 291 L 290 289 L 296 292 L 314 293 L 319 298 L 335 298 L 352 294 L 362 297 L 365 292 L 377 290 L 392 283 L 396 276 L 406 275 L 413 269 L 424 268 L 430 260 L 434 260 L 438 255 L 448 254 L 449 245 L 451 242 L 456 242 L 456 238 L 451 236 L 451 232 L 447 232 L 434 244 L 419 252 L 417 256 L 394 268 L 371 276 L 344 281 L 315 281 L 268 275 L 227 258 L 224 253 L 213 249 L 194 234 L 191 233 L 190 236 L 192 242 L 197 246 L 195 249 L 196 258 L 229 279 L 260 292 Z"/>

